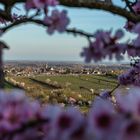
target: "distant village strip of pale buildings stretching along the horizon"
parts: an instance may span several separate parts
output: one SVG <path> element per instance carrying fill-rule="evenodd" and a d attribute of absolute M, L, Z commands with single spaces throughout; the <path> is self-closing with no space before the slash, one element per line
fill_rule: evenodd
<path fill-rule="evenodd" d="M 124 64 L 100 64 L 88 65 L 64 62 L 9 62 L 4 66 L 5 75 L 12 76 L 34 76 L 34 75 L 63 75 L 63 74 L 97 74 L 97 75 L 118 75 L 127 70 L 130 66 Z"/>

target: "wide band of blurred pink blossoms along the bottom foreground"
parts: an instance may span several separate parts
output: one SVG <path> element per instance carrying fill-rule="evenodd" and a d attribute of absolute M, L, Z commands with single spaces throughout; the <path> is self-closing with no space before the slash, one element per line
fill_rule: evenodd
<path fill-rule="evenodd" d="M 0 91 L 0 139 L 139 140 L 139 91 L 117 91 L 115 104 L 97 97 L 86 115 L 74 107 L 41 106 L 21 91 Z"/>

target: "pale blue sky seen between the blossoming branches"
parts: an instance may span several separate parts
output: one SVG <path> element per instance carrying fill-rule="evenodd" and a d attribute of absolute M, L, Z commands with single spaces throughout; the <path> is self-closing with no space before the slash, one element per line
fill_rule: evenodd
<path fill-rule="evenodd" d="M 97 29 L 115 30 L 125 24 L 123 18 L 103 11 L 60 9 L 68 10 L 71 19 L 69 27 L 90 33 Z M 4 51 L 5 60 L 84 61 L 80 52 L 87 46 L 87 40 L 83 37 L 66 33 L 49 36 L 45 28 L 32 24 L 11 29 L 2 36 L 2 40 L 10 46 L 10 50 Z"/>

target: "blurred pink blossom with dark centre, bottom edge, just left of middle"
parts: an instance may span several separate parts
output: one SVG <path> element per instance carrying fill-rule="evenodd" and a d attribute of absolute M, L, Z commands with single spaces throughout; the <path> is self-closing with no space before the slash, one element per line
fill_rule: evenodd
<path fill-rule="evenodd" d="M 51 129 L 49 129 L 46 139 L 57 140 L 59 135 L 59 140 L 70 140 L 70 138 L 78 136 L 76 132 L 81 128 L 82 124 L 83 116 L 77 109 L 67 108 L 66 111 L 61 110 L 49 126 Z M 44 131 L 47 133 L 48 127 Z M 83 136 L 84 133 L 81 135 Z"/>

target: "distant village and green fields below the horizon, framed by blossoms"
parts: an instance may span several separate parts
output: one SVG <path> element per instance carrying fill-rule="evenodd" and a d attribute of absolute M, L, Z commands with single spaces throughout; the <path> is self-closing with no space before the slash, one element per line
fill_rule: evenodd
<path fill-rule="evenodd" d="M 81 64 L 73 62 L 7 62 L 5 82 L 24 90 L 40 102 L 89 108 L 105 89 L 118 84 L 127 64 Z"/>

